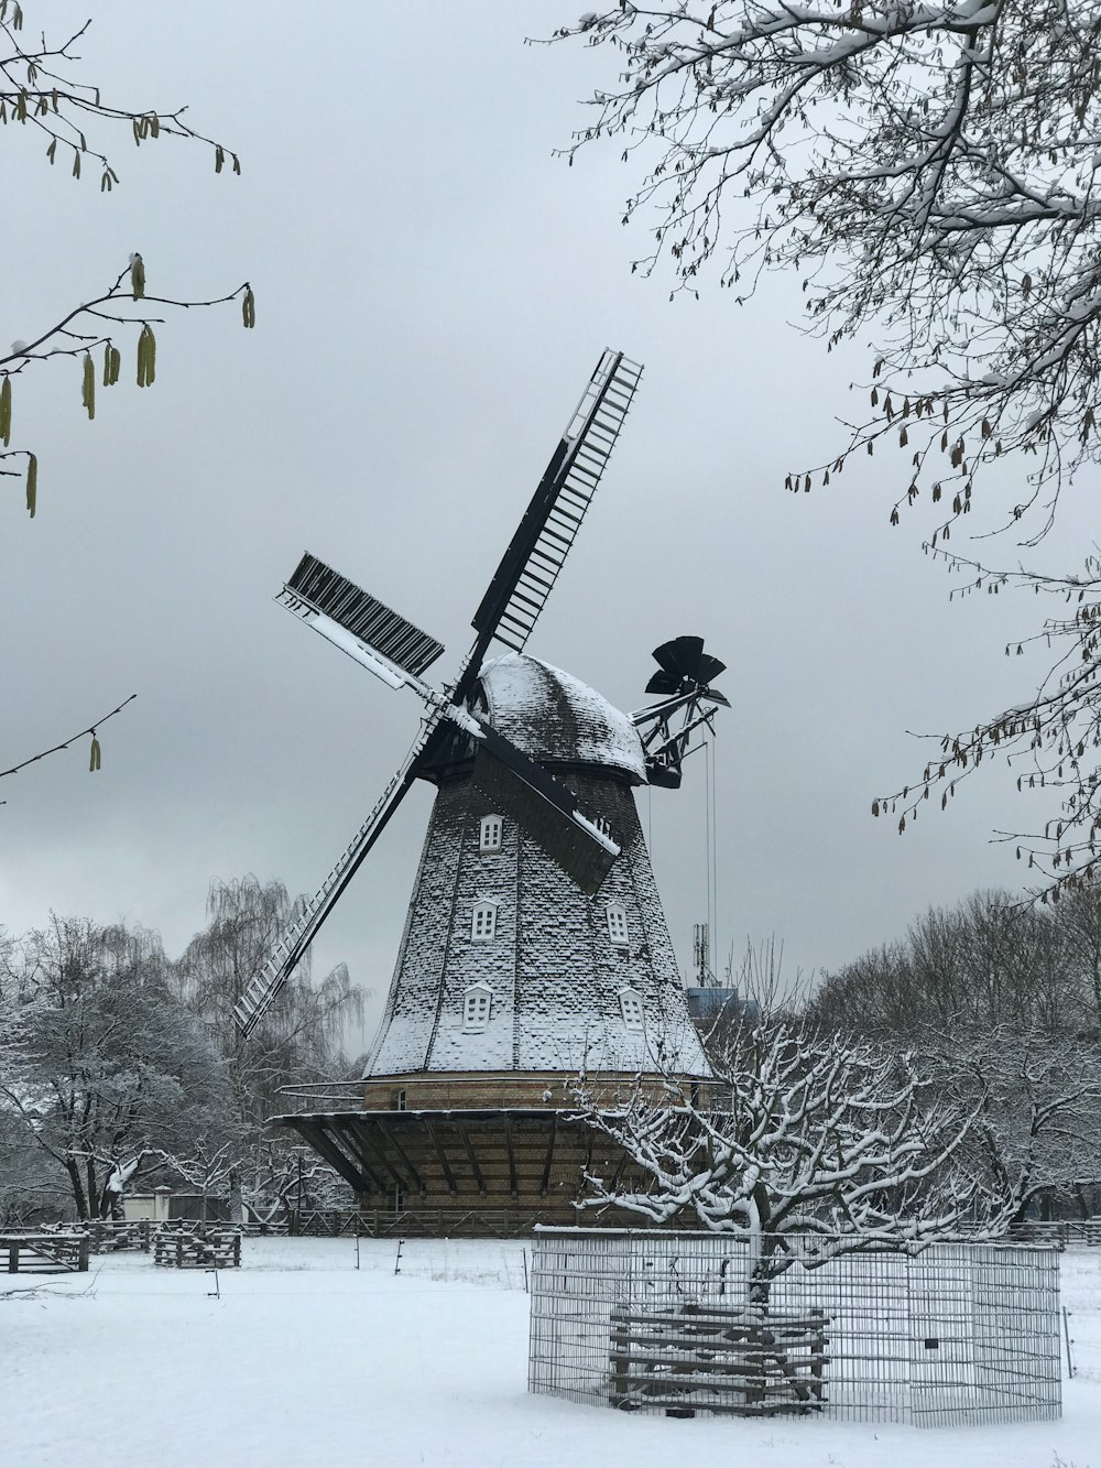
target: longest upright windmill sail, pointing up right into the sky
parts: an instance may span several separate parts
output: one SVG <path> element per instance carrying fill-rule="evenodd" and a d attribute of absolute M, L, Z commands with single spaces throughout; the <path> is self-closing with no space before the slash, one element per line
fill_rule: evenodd
<path fill-rule="evenodd" d="M 524 650 L 581 528 L 640 377 L 642 367 L 622 352 L 600 357 L 474 614 L 479 640 L 457 696 L 468 691 L 493 637 L 512 652 Z"/>

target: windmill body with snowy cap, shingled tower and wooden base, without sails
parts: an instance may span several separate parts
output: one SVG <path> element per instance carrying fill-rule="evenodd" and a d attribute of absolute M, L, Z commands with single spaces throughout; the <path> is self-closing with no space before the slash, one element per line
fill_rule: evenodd
<path fill-rule="evenodd" d="M 530 800 L 452 741 L 424 777 L 437 793 L 360 1105 L 282 1120 L 405 1232 L 596 1223 L 575 1207 L 584 1174 L 624 1160 L 573 1120 L 578 1076 L 606 1104 L 640 1075 L 711 1078 L 634 806 L 644 750 L 627 715 L 527 655 L 487 662 L 468 708 L 619 854 L 586 893 L 530 834 Z"/>

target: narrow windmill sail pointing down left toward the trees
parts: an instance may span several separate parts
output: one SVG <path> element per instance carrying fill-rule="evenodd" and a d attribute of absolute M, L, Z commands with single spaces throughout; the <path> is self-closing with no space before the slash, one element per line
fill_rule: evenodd
<path fill-rule="evenodd" d="M 390 816 L 405 799 L 410 785 L 417 778 L 417 762 L 420 755 L 440 716 L 442 715 L 437 712 L 429 716 L 424 728 L 421 730 L 420 738 L 407 755 L 401 769 L 383 790 L 371 813 L 341 853 L 333 869 L 329 872 L 324 882 L 321 882 L 317 893 L 314 893 L 298 918 L 288 926 L 286 932 L 283 932 L 264 967 L 255 975 L 245 992 L 233 1006 L 233 1017 L 236 1019 L 238 1029 L 242 1035 L 248 1036 L 263 1019 L 266 1010 L 272 1004 L 272 1000 L 275 1000 L 279 989 L 302 960 L 305 950 L 317 937 L 317 932 L 332 912 L 336 898 L 352 879 L 360 868 L 360 863 L 379 840 Z"/>

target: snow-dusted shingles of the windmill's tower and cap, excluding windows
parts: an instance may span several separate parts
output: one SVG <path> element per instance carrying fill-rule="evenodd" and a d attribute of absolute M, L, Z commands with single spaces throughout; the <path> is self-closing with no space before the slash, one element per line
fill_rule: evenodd
<path fill-rule="evenodd" d="M 558 774 L 621 856 L 590 897 L 479 787 L 476 769 L 442 778 L 370 1050 L 368 1104 L 383 1079 L 402 1076 L 415 1105 L 437 1073 L 492 1076 L 511 1097 L 542 1094 L 546 1078 L 561 1094 L 562 1078 L 580 1072 L 706 1075 L 631 794 L 646 781 L 639 734 L 600 694 L 530 656 L 489 664 L 479 691 L 492 727 Z M 486 818 L 501 822 L 489 849 Z M 480 904 L 493 907 L 492 937 L 476 928 Z M 484 1025 L 467 1011 L 474 985 L 489 994 Z M 518 1085 L 527 1076 L 533 1086 Z"/>

